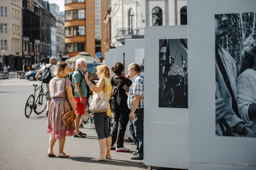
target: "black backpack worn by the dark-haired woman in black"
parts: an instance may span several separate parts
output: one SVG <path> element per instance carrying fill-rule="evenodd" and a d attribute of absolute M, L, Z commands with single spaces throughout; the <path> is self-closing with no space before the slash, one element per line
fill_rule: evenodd
<path fill-rule="evenodd" d="M 110 99 L 109 99 L 109 105 L 110 105 L 111 111 L 117 110 L 117 108 L 119 108 L 119 106 L 121 104 L 122 97 L 120 97 L 120 95 L 119 95 L 119 86 L 121 86 L 123 80 L 124 79 L 120 80 L 116 86 L 112 86 L 112 91 L 111 91 Z M 113 84 L 113 83 L 114 83 L 114 81 L 112 78 L 111 84 Z"/>

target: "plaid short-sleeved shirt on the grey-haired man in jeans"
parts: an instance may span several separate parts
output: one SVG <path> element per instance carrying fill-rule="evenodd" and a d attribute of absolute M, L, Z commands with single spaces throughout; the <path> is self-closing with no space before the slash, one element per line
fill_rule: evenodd
<path fill-rule="evenodd" d="M 137 109 L 144 108 L 144 77 L 140 73 L 136 74 L 132 79 L 131 88 L 129 89 L 128 95 L 128 108 L 131 109 L 133 106 L 135 95 L 141 96 L 139 106 Z"/>

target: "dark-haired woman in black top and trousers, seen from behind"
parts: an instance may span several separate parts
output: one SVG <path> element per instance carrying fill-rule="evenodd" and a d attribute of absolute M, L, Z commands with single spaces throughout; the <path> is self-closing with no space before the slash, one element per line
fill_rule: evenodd
<path fill-rule="evenodd" d="M 126 126 L 129 121 L 130 109 L 127 106 L 127 96 L 123 86 L 130 87 L 132 81 L 125 78 L 123 74 L 125 73 L 125 67 L 122 63 L 117 62 L 114 67 L 111 67 L 111 71 L 115 73 L 114 77 L 110 78 L 112 87 L 117 86 L 118 83 L 122 80 L 121 85 L 119 86 L 119 96 L 121 98 L 120 106 L 117 106 L 113 111 L 114 114 L 114 124 L 110 132 L 112 137 L 111 149 L 116 149 L 116 152 L 128 152 L 130 149 L 124 147 L 124 137 Z M 117 147 L 114 146 L 117 140 Z"/>

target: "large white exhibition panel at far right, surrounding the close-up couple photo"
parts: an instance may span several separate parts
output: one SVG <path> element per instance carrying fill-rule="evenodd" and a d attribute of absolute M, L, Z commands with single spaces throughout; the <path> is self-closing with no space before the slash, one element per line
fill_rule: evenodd
<path fill-rule="evenodd" d="M 250 166 L 248 169 L 256 169 L 256 138 L 225 137 L 215 134 L 214 31 L 214 14 L 255 12 L 256 1 L 189 0 L 188 6 L 189 162 L 211 163 L 211 165 L 242 163 L 248 164 Z M 200 167 L 189 169 L 200 169 Z"/>

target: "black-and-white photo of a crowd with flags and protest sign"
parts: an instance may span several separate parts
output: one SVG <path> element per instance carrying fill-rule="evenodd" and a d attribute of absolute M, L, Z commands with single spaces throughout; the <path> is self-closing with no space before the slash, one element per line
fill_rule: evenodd
<path fill-rule="evenodd" d="M 188 39 L 159 40 L 161 108 L 188 108 Z"/>

